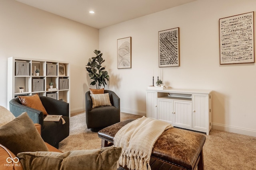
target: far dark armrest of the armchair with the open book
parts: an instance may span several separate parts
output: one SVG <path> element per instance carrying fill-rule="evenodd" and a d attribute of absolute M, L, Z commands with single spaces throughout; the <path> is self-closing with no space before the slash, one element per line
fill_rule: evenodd
<path fill-rule="evenodd" d="M 63 115 L 69 117 L 69 104 L 46 96 L 39 96 L 49 115 Z"/>

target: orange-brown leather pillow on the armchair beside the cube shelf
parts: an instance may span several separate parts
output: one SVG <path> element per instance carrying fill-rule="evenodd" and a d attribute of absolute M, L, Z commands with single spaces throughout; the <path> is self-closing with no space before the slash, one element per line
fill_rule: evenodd
<path fill-rule="evenodd" d="M 20 103 L 23 104 L 24 106 L 28 106 L 33 109 L 40 110 L 44 113 L 44 115 L 48 115 L 38 94 L 35 94 L 33 96 L 18 96 L 18 98 L 20 100 Z"/>

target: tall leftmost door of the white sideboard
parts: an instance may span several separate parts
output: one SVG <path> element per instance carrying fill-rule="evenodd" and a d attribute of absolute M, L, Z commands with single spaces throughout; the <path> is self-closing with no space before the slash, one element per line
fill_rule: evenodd
<path fill-rule="evenodd" d="M 147 92 L 147 117 L 157 119 L 157 96 L 156 92 Z"/>

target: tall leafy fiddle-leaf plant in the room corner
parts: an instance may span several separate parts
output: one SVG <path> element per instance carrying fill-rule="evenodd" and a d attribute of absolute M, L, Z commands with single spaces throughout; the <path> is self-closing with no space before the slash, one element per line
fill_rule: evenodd
<path fill-rule="evenodd" d="M 96 54 L 96 57 L 92 57 L 89 59 L 89 62 L 86 66 L 86 70 L 89 73 L 90 79 L 93 81 L 91 82 L 91 85 L 96 85 L 97 89 L 100 89 L 100 87 L 103 85 L 105 87 L 106 80 L 109 80 L 108 72 L 104 71 L 105 67 L 102 67 L 101 64 L 105 61 L 102 58 L 102 53 L 98 50 L 94 50 L 94 53 Z"/>

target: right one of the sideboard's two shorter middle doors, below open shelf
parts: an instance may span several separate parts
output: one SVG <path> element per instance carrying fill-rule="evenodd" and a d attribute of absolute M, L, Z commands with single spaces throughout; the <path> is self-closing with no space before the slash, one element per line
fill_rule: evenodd
<path fill-rule="evenodd" d="M 192 127 L 192 102 L 174 100 L 174 126 Z"/>

